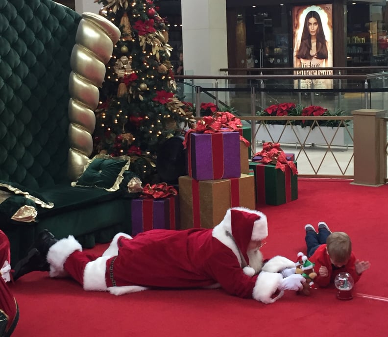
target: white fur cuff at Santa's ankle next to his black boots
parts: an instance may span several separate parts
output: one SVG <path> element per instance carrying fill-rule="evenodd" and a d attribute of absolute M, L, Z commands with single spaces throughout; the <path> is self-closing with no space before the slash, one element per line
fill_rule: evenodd
<path fill-rule="evenodd" d="M 49 248 L 47 262 L 50 265 L 50 277 L 64 277 L 67 275 L 63 265 L 70 254 L 76 250 L 82 252 L 82 246 L 74 239 L 73 235 L 55 242 Z"/>

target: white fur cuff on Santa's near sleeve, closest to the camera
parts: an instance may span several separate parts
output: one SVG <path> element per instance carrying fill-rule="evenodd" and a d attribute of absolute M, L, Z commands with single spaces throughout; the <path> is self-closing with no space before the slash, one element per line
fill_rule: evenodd
<path fill-rule="evenodd" d="M 271 298 L 272 294 L 276 292 L 282 283 L 283 277 L 279 273 L 269 273 L 267 271 L 261 271 L 257 276 L 256 284 L 253 287 L 252 297 L 263 303 L 273 303 L 277 299 L 283 296 L 284 291 L 280 291 L 279 294 Z"/>

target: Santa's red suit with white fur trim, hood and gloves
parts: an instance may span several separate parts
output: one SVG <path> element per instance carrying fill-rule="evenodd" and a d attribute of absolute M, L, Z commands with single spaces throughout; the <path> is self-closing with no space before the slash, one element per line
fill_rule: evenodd
<path fill-rule="evenodd" d="M 51 277 L 70 274 L 85 290 L 120 295 L 148 288 L 221 287 L 271 303 L 285 289 L 300 289 L 304 278 L 283 278 L 281 271 L 295 264 L 281 256 L 263 266 L 258 247 L 250 245 L 266 237 L 263 213 L 235 207 L 214 229 L 151 230 L 134 238 L 119 233 L 100 257 L 82 252 L 69 236 L 50 247 L 47 260 Z"/>

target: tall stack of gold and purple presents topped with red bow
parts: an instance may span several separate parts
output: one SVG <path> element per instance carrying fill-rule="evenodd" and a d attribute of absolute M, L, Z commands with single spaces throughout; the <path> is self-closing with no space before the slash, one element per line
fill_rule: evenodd
<path fill-rule="evenodd" d="M 238 132 L 241 120 L 217 112 L 189 130 L 188 175 L 179 177 L 182 228 L 213 228 L 230 207 L 255 208 L 254 177 L 247 142 Z"/>

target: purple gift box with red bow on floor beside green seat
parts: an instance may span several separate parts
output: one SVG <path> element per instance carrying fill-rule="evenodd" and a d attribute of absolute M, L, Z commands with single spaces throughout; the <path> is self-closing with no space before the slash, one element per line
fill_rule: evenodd
<path fill-rule="evenodd" d="M 179 196 L 166 183 L 146 184 L 131 202 L 132 235 L 151 229 L 180 229 Z"/>

